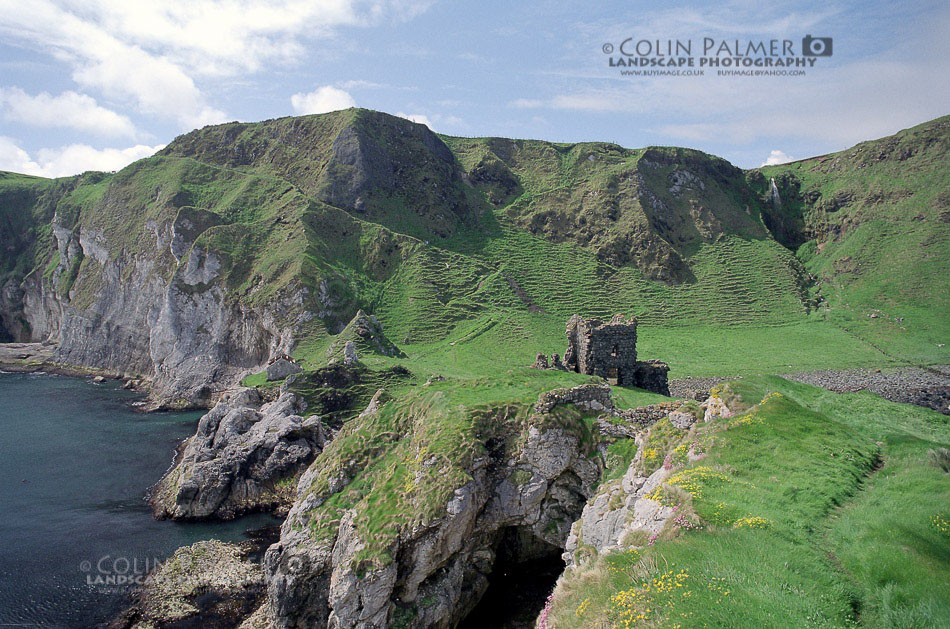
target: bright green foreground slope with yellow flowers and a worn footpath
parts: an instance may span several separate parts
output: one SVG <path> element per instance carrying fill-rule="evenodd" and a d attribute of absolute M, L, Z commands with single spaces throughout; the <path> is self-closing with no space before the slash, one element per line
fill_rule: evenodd
<path fill-rule="evenodd" d="M 554 625 L 945 626 L 950 480 L 927 452 L 946 417 L 779 378 L 730 388 L 766 399 L 697 431 L 708 456 L 663 492 L 704 528 L 574 573 Z"/>

